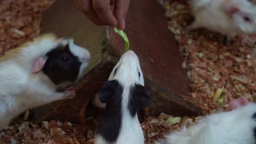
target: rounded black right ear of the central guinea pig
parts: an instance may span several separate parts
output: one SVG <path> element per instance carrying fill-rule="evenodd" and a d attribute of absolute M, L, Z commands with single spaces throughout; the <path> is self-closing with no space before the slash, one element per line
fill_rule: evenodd
<path fill-rule="evenodd" d="M 149 91 L 142 85 L 135 85 L 132 89 L 132 101 L 138 109 L 144 109 L 149 105 Z"/>

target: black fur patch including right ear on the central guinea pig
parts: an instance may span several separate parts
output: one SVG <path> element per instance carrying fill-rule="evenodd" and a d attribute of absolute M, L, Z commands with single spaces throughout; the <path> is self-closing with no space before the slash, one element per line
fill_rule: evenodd
<path fill-rule="evenodd" d="M 136 84 L 130 89 L 130 100 L 128 109 L 134 117 L 139 109 L 144 109 L 149 104 L 148 89 L 142 85 Z"/>

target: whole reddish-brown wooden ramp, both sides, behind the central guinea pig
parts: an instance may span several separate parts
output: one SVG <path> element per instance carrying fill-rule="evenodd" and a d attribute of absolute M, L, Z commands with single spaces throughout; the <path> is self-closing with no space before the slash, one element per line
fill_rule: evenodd
<path fill-rule="evenodd" d="M 124 41 L 114 33 L 113 28 L 91 23 L 75 8 L 74 1 L 71 0 L 56 0 L 45 11 L 42 33 L 46 32 L 54 32 L 59 37 L 73 37 L 76 44 L 89 49 L 92 59 L 85 70 L 87 74 L 83 88 L 80 88 L 75 99 L 59 101 L 48 105 L 48 109 L 39 108 L 38 111 L 48 113 L 44 119 L 84 122 L 84 115 L 79 113 L 85 111 L 88 100 L 98 92 L 101 85 L 91 85 L 87 82 L 97 81 L 98 77 L 108 79 L 111 68 L 106 65 L 106 61 L 109 56 L 122 55 Z M 174 116 L 197 115 L 200 110 L 182 98 L 190 97 L 189 81 L 181 67 L 182 58 L 177 42 L 167 29 L 167 19 L 162 6 L 156 0 L 131 1 L 125 32 L 129 37 L 131 50 L 139 56 L 146 86 L 152 97 L 146 114 L 157 116 L 160 112 L 165 112 Z M 102 65 L 107 69 L 104 73 L 91 72 L 92 69 L 104 70 Z M 66 112 L 67 109 L 73 114 Z"/>

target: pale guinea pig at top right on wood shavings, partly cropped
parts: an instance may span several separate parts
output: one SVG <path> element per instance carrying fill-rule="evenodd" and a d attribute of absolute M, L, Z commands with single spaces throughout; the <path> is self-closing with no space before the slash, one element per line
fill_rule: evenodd
<path fill-rule="evenodd" d="M 256 33 L 256 6 L 248 0 L 191 0 L 195 21 L 189 29 L 207 28 L 228 39 Z"/>

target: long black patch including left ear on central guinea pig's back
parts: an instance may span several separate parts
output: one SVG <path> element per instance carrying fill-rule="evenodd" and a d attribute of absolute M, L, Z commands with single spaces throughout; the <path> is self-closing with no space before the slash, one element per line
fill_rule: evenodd
<path fill-rule="evenodd" d="M 109 143 L 117 141 L 121 129 L 121 101 L 123 86 L 117 80 L 108 81 L 102 86 L 99 96 L 101 102 L 106 102 L 106 110 L 97 134 Z"/>

